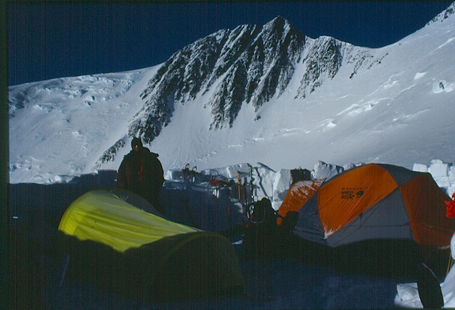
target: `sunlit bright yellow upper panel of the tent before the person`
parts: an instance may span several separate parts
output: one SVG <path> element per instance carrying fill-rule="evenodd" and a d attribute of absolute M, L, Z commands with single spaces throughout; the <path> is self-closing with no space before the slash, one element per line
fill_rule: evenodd
<path fill-rule="evenodd" d="M 196 228 L 141 210 L 127 200 L 134 194 L 116 190 L 95 190 L 73 202 L 58 226 L 79 240 L 93 240 L 119 252 L 181 233 L 195 233 Z"/>

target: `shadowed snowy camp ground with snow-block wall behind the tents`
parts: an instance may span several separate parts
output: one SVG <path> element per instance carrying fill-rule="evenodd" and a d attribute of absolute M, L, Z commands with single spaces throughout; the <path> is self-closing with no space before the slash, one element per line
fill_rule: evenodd
<path fill-rule="evenodd" d="M 438 173 L 446 182 L 444 188 L 450 192 L 451 165 L 433 161 L 429 167 L 415 167 Z M 311 174 L 314 178 L 331 177 L 341 170 L 319 162 Z M 243 199 L 249 202 L 251 196 L 255 200 L 267 196 L 278 209 L 291 182 L 289 170 L 274 172 L 260 164 L 240 164 L 197 174 L 191 170 L 168 171 L 162 192 L 166 215 L 173 221 L 227 233 L 239 253 L 246 282 L 244 294 L 163 304 L 124 297 L 89 282 L 62 277 L 65 253 L 58 248 L 56 234 L 63 212 L 85 192 L 115 187 L 115 176 L 114 170 L 104 170 L 68 183 L 10 184 L 16 308 L 35 308 L 41 303 L 45 309 L 390 309 L 395 306 L 397 283 L 415 281 L 409 270 L 386 272 L 377 265 L 365 268 L 363 253 L 359 257 L 355 257 L 355 252 L 334 255 L 311 245 L 297 249 L 293 244 L 290 252 L 296 255 L 281 253 L 273 259 L 247 258 L 242 231 L 237 230 L 246 221 Z M 236 192 L 240 186 L 232 180 L 240 180 L 245 194 Z M 381 250 L 387 252 L 392 248 Z M 402 260 L 412 266 L 413 258 L 406 253 Z M 348 264 L 350 267 L 346 269 Z M 444 270 L 446 265 L 438 267 Z"/>

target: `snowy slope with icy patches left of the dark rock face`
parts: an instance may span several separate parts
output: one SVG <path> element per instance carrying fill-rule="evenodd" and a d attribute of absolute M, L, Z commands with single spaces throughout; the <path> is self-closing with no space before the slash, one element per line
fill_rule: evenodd
<path fill-rule="evenodd" d="M 154 68 L 52 79 L 10 87 L 10 175 L 52 182 L 91 172 L 140 108 Z M 125 143 L 129 145 L 125 137 Z"/>

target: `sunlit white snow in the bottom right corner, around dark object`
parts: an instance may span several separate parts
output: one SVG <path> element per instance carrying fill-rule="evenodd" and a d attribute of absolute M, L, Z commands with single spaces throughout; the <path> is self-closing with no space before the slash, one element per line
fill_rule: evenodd
<path fill-rule="evenodd" d="M 455 259 L 455 235 L 451 238 L 450 251 L 452 258 Z M 441 286 L 441 293 L 444 298 L 444 308 L 455 307 L 455 265 L 451 267 L 444 282 L 439 285 Z M 395 306 L 402 308 L 423 308 L 417 289 L 417 283 L 397 284 Z"/>

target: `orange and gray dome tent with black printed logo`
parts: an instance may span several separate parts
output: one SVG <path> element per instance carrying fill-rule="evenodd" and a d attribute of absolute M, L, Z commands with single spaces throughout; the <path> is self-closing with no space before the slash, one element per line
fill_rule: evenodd
<path fill-rule="evenodd" d="M 298 212 L 294 235 L 333 248 L 385 239 L 445 248 L 454 233 L 454 219 L 446 217 L 449 200 L 427 172 L 368 164 L 322 184 L 294 184 L 278 213 Z"/>

